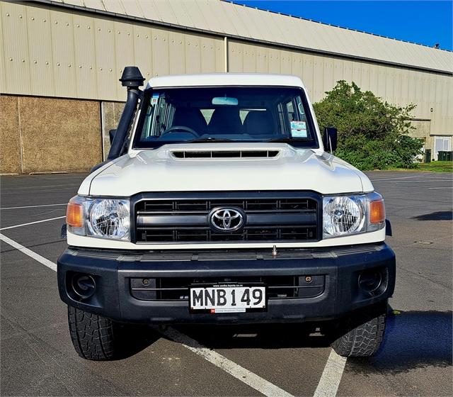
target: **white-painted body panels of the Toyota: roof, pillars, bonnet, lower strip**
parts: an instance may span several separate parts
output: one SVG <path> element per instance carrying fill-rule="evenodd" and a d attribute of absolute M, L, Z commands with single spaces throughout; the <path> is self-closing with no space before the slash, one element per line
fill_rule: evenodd
<path fill-rule="evenodd" d="M 299 77 L 272 74 L 206 74 L 157 77 L 148 86 L 297 86 Z M 308 96 L 307 96 L 308 99 Z M 309 99 L 308 99 L 309 101 Z M 310 101 L 309 101 L 310 104 Z M 310 104 L 311 116 L 315 118 Z M 137 119 L 132 127 L 136 133 Z M 296 148 L 286 143 L 214 142 L 163 145 L 154 150 L 132 150 L 88 175 L 79 188 L 83 196 L 130 197 L 142 192 L 176 191 L 315 191 L 323 195 L 357 194 L 374 190 L 368 177 L 347 162 L 324 152 L 321 134 L 319 149 Z M 176 150 L 276 150 L 275 157 L 264 158 L 189 158 L 173 155 Z M 134 244 L 127 241 L 86 237 L 68 233 L 68 244 L 124 250 L 329 247 L 379 242 L 385 228 L 377 232 L 324 239 L 318 242 L 216 242 Z"/>

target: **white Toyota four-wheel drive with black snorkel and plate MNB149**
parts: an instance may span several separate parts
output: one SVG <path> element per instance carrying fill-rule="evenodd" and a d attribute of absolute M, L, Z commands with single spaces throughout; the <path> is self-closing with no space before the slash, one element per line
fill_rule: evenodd
<path fill-rule="evenodd" d="M 374 354 L 395 284 L 384 201 L 331 155 L 301 80 L 120 81 L 108 160 L 71 198 L 58 260 L 81 357 L 115 358 L 119 323 L 307 322 L 338 354 Z"/>

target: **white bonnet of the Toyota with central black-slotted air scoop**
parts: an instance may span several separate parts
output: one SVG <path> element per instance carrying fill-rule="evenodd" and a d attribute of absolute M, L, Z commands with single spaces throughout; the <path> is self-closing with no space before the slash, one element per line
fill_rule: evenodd
<path fill-rule="evenodd" d="M 277 150 L 276 157 L 180 159 L 175 150 Z M 365 174 L 327 153 L 285 143 L 164 145 L 124 155 L 88 175 L 79 194 L 132 196 L 145 191 L 311 190 L 321 194 L 372 191 Z"/>

